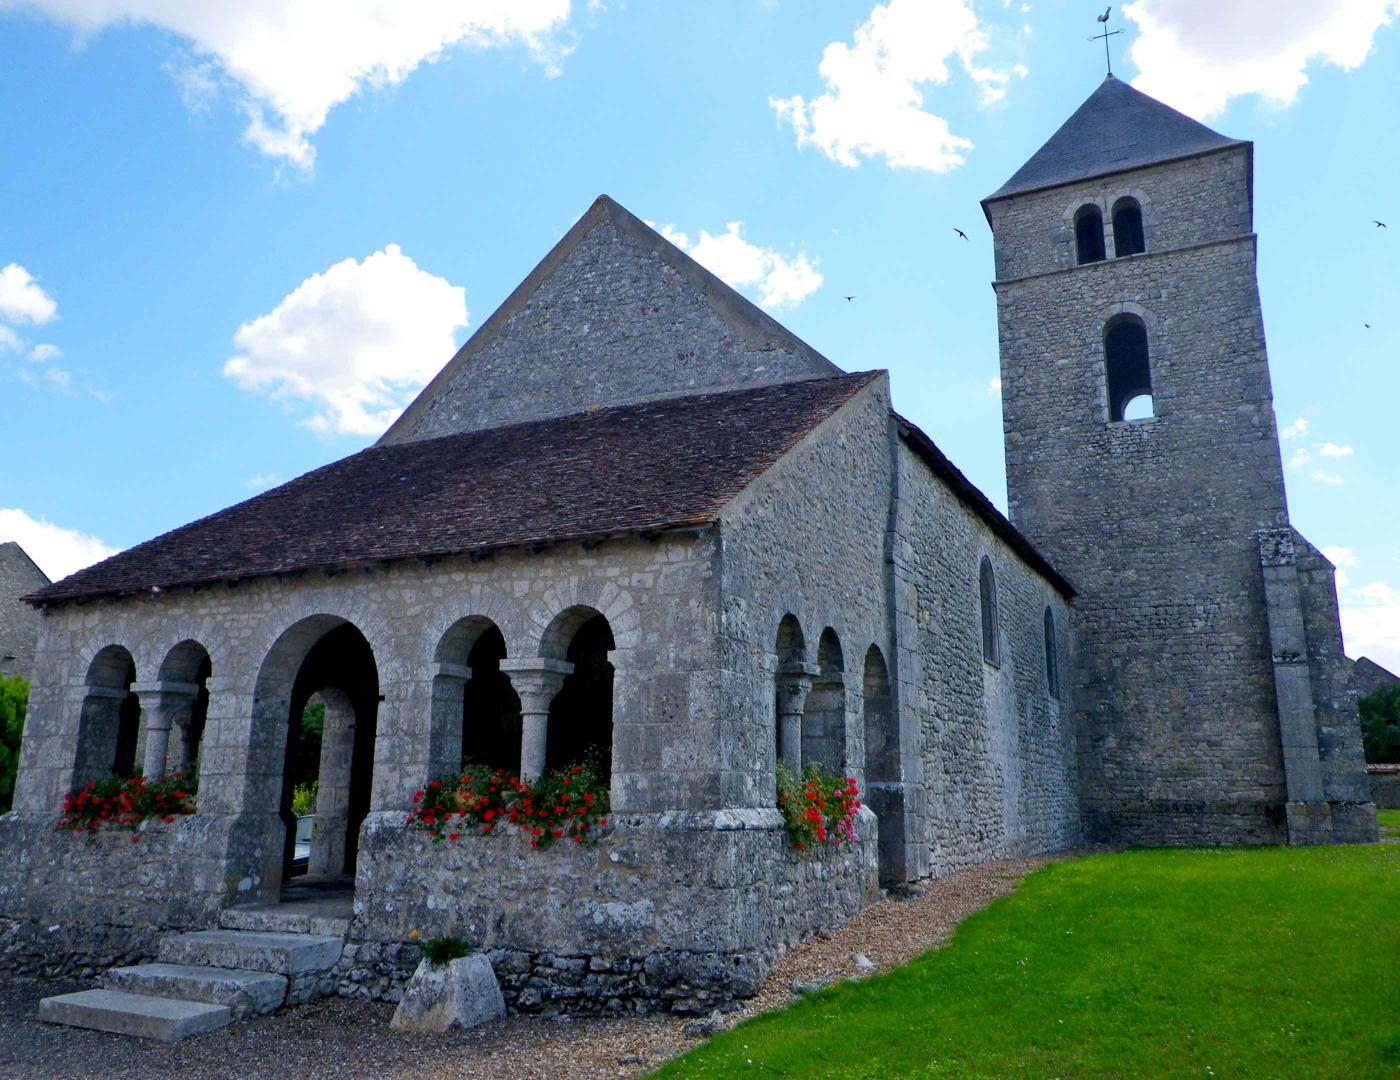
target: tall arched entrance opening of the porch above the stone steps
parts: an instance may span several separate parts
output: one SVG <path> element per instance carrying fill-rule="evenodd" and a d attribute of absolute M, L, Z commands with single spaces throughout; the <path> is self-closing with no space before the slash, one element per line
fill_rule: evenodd
<path fill-rule="evenodd" d="M 379 710 L 379 672 L 368 640 L 332 615 L 302 619 L 263 661 L 253 710 L 267 738 L 279 728 L 281 734 L 276 810 L 284 826 L 283 882 L 302 874 L 351 877 L 360 825 L 370 812 Z M 309 831 L 302 824 L 298 857 L 294 804 L 304 811 L 308 791 L 314 812 Z"/>

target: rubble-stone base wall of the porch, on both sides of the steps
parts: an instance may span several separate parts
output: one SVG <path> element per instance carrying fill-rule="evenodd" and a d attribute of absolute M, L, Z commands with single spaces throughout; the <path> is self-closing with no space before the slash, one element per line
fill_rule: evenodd
<path fill-rule="evenodd" d="M 244 866 L 262 832 L 192 815 L 146 822 L 133 843 L 0 818 L 0 969 L 97 975 L 217 926 L 230 901 L 259 895 Z M 518 833 L 434 843 L 406 814 L 371 814 L 344 954 L 302 996 L 399 1000 L 417 930 L 483 948 L 518 1011 L 704 1011 L 756 993 L 780 951 L 878 895 L 869 810 L 857 836 L 799 854 L 776 810 L 728 810 L 613 815 L 595 845 L 535 850 Z"/>

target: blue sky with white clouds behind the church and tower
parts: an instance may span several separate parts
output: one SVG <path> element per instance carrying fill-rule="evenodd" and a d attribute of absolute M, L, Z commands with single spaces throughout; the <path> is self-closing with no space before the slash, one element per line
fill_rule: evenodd
<path fill-rule="evenodd" d="M 67 573 L 367 445 L 599 192 L 888 367 L 1005 506 L 977 203 L 1102 78 L 1100 11 L 0 0 L 0 539 Z M 1113 53 L 1256 143 L 1294 522 L 1400 670 L 1397 14 L 1137 0 Z"/>

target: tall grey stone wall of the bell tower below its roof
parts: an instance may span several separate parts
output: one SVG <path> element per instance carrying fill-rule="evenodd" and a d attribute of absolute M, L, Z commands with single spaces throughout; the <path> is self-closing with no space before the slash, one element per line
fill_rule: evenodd
<path fill-rule="evenodd" d="M 1050 269 L 1064 262 L 1063 210 L 1095 192 L 1109 206 L 1140 199 L 1147 252 Z M 1287 508 L 1245 154 L 1070 185 L 994 214 L 1011 517 L 1079 591 L 1091 835 L 1280 842 L 1256 532 L 1287 524 Z M 1103 332 L 1120 312 L 1148 328 L 1149 420 L 1107 420 Z"/>

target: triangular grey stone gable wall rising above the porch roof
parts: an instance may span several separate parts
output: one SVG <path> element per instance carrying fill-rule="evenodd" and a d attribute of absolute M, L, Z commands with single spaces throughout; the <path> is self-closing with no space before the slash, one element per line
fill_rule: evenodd
<path fill-rule="evenodd" d="M 575 230 L 384 441 L 840 374 L 622 207 L 601 200 Z"/>

